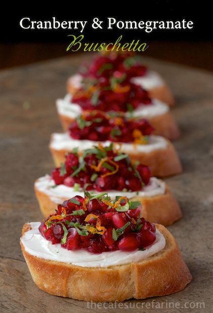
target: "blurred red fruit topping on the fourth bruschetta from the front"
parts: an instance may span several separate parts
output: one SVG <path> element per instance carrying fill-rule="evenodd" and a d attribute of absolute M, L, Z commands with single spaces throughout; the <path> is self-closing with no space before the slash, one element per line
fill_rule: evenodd
<path fill-rule="evenodd" d="M 141 104 L 151 105 L 148 92 L 131 83 L 125 74 L 114 73 L 110 79 L 84 79 L 83 87 L 72 98 L 82 110 L 132 112 Z"/>

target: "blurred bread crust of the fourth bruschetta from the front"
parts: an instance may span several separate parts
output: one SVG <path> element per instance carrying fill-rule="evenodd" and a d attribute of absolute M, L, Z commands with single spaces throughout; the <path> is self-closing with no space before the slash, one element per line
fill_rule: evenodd
<path fill-rule="evenodd" d="M 59 114 L 59 118 L 64 131 L 67 131 L 70 124 L 75 120 L 62 114 Z M 170 112 L 148 118 L 147 120 L 154 128 L 153 135 L 163 136 L 170 140 L 176 140 L 180 137 L 179 127 Z"/>

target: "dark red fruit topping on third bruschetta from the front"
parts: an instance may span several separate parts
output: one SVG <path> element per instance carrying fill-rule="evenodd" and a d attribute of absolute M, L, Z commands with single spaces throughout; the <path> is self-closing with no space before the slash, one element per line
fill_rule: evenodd
<path fill-rule="evenodd" d="M 94 141 L 146 143 L 153 127 L 145 119 L 131 119 L 123 115 L 86 112 L 70 124 L 70 136 L 74 139 Z"/>

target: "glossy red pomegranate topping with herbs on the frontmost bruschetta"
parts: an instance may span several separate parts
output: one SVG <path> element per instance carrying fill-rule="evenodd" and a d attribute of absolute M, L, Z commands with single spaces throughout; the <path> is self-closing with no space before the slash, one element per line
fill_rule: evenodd
<path fill-rule="evenodd" d="M 141 203 L 107 193 L 75 196 L 58 205 L 54 215 L 41 222 L 39 232 L 52 244 L 68 250 L 85 249 L 92 253 L 144 249 L 156 238 L 155 226 L 139 218 Z M 135 214 L 130 214 L 135 212 Z"/>

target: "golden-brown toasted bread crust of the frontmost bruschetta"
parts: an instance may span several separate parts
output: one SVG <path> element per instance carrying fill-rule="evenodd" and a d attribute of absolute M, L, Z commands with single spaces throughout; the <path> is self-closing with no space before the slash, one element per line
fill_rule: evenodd
<path fill-rule="evenodd" d="M 22 242 L 21 249 L 34 283 L 52 295 L 95 302 L 145 299 L 181 291 L 192 280 L 172 234 L 156 227 L 166 239 L 163 250 L 138 263 L 108 268 L 45 260 L 26 252 Z M 22 235 L 28 229 L 25 224 Z"/>

